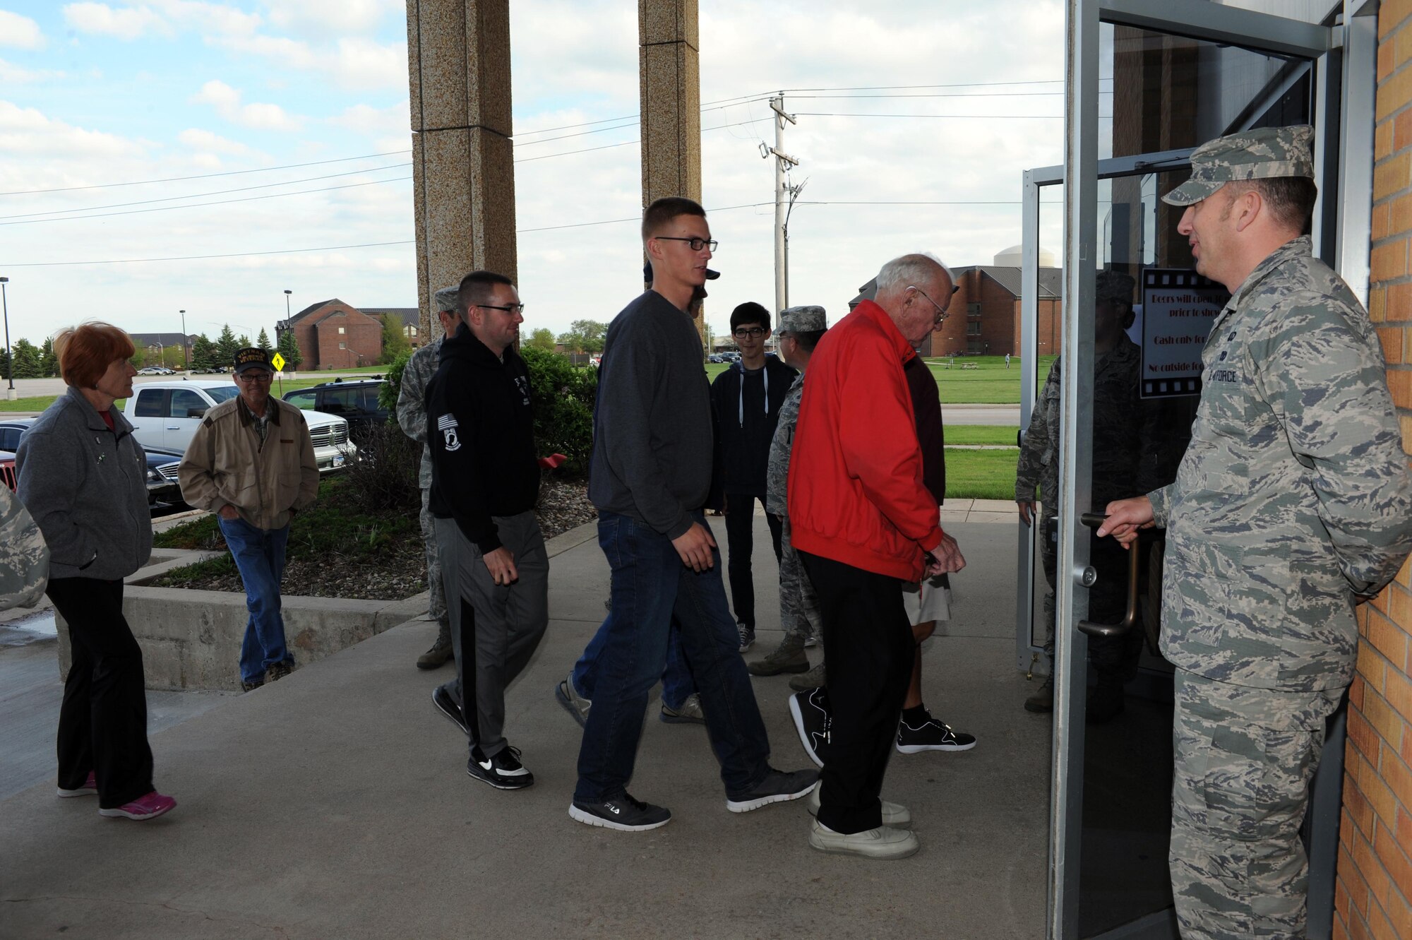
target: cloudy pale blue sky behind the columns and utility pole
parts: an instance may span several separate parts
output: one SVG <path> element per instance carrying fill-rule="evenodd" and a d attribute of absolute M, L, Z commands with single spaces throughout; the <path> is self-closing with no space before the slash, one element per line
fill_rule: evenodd
<path fill-rule="evenodd" d="M 808 181 L 791 302 L 836 316 L 892 255 L 988 264 L 1019 241 L 1021 172 L 1062 159 L 1058 0 L 761 8 L 700 3 L 717 329 L 772 306 L 779 89 Z M 513 0 L 511 45 L 527 330 L 609 320 L 641 287 L 637 4 Z M 295 311 L 415 306 L 408 127 L 404 0 L 0 0 L 11 336 L 175 332 L 179 309 L 192 333 L 273 336 L 285 289 Z"/>

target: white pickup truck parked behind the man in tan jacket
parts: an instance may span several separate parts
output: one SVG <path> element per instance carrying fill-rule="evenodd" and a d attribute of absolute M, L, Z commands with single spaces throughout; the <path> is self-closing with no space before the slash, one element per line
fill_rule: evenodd
<path fill-rule="evenodd" d="M 144 447 L 185 453 L 206 409 L 237 394 L 229 378 L 145 382 L 133 388 L 133 397 L 123 405 L 123 416 L 133 422 L 137 443 Z M 349 440 L 349 422 L 345 418 L 322 411 L 302 414 L 309 425 L 309 438 L 313 439 L 319 473 L 337 470 L 357 456 L 357 447 Z M 161 470 L 167 476 L 167 467 Z M 172 478 L 175 473 L 176 467 L 172 466 Z"/>

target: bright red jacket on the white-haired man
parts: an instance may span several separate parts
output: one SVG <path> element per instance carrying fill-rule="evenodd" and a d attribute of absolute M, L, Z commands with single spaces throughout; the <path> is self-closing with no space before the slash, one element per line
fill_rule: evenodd
<path fill-rule="evenodd" d="M 873 301 L 839 320 L 809 360 L 789 456 L 789 538 L 812 555 L 922 579 L 942 541 L 902 363 L 916 353 Z"/>

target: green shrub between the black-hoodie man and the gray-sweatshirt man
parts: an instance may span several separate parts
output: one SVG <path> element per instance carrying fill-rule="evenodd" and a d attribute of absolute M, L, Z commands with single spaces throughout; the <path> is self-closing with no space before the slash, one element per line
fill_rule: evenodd
<path fill-rule="evenodd" d="M 541 457 L 562 453 L 569 460 L 559 471 L 583 477 L 593 454 L 593 402 L 599 392 L 599 370 L 575 366 L 568 356 L 521 346 L 530 368 L 534 398 L 534 438 Z"/>

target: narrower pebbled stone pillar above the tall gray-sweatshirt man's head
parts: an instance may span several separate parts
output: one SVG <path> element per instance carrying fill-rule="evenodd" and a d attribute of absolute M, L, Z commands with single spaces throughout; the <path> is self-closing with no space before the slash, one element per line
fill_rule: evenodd
<path fill-rule="evenodd" d="M 702 95 L 696 0 L 638 0 L 642 207 L 702 199 Z M 705 330 L 705 315 L 698 329 Z"/>

